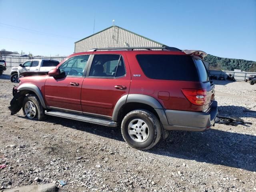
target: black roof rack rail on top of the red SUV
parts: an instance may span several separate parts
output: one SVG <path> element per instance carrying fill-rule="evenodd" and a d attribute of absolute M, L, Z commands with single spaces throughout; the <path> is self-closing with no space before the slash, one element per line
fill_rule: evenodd
<path fill-rule="evenodd" d="M 146 49 L 146 50 L 153 50 L 153 49 L 162 49 L 162 50 L 168 50 L 168 51 L 182 51 L 176 47 L 168 47 L 168 46 L 162 46 L 162 47 L 112 47 L 112 48 L 93 48 L 88 50 L 90 51 L 98 51 L 98 50 L 134 50 L 134 49 Z"/>

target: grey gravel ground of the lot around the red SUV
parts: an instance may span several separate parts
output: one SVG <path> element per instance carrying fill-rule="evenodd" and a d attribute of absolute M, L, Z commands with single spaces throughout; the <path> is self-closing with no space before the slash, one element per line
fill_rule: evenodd
<path fill-rule="evenodd" d="M 256 86 L 215 81 L 220 115 L 252 125 L 216 124 L 205 132 L 173 131 L 148 151 L 135 150 L 120 130 L 49 116 L 10 116 L 12 87 L 0 76 L 0 185 L 14 188 L 64 180 L 83 191 L 256 191 Z"/>

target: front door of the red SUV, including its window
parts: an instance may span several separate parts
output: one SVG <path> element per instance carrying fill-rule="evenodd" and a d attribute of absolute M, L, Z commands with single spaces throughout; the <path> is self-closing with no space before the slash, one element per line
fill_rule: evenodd
<path fill-rule="evenodd" d="M 81 88 L 90 55 L 73 56 L 59 66 L 62 78 L 48 77 L 44 88 L 46 105 L 55 110 L 82 113 Z"/>

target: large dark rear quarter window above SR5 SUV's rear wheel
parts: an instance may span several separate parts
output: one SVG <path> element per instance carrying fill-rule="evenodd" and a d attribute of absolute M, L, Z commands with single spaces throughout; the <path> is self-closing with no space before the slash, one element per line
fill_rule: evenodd
<path fill-rule="evenodd" d="M 198 81 L 196 66 L 186 55 L 137 55 L 148 78 L 160 80 Z"/>

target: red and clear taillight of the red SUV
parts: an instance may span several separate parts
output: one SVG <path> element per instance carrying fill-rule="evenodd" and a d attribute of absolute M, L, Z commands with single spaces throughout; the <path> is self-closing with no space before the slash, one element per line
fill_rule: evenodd
<path fill-rule="evenodd" d="M 204 105 L 206 103 L 206 89 L 182 89 L 181 91 L 194 105 Z"/>

